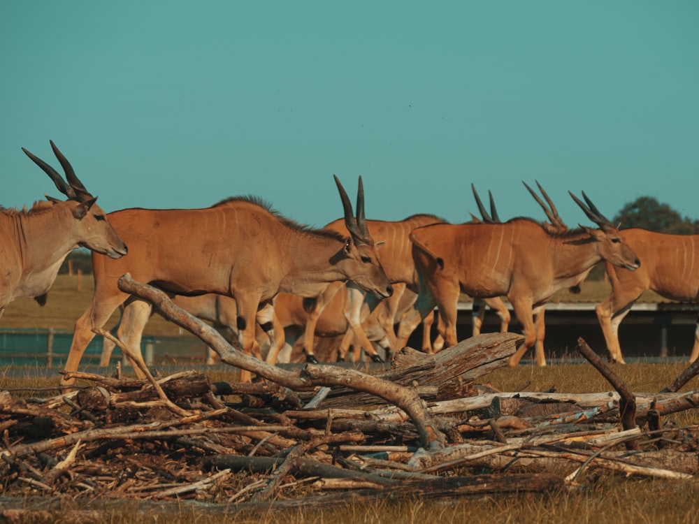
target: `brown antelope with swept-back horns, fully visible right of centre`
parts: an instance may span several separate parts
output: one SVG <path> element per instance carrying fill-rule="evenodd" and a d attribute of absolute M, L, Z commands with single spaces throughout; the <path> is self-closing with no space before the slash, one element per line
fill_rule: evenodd
<path fill-rule="evenodd" d="M 456 344 L 459 293 L 507 296 L 524 331 L 524 342 L 510 358 L 517 365 L 536 342 L 533 308 L 553 293 L 579 283 L 579 275 L 599 261 L 633 270 L 640 262 L 621 232 L 583 193 L 573 200 L 599 228 L 551 233 L 531 219 L 503 224 L 433 224 L 412 231 L 413 255 L 421 281 L 417 307 L 436 304 L 447 346 Z M 544 365 L 544 362 L 538 364 Z"/>

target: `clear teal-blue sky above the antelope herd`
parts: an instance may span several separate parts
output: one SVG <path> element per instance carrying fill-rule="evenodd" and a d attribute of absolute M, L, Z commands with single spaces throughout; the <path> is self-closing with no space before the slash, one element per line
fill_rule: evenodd
<path fill-rule="evenodd" d="M 196 4 L 196 5 L 195 5 Z M 254 194 L 304 224 L 342 214 L 543 219 L 539 180 L 608 217 L 653 196 L 699 218 L 699 2 L 0 3 L 6 207 L 66 154 L 107 211 Z"/>

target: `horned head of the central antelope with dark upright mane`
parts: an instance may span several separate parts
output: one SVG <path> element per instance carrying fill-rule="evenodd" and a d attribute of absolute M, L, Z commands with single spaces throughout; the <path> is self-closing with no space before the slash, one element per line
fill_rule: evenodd
<path fill-rule="evenodd" d="M 335 183 L 340 191 L 340 198 L 345 209 L 345 227 L 349 231 L 349 237 L 345 239 L 343 256 L 338 261 L 338 267 L 350 281 L 359 285 L 370 293 L 375 293 L 380 298 L 387 298 L 393 294 L 393 287 L 384 273 L 377 247 L 366 226 L 364 216 L 364 187 L 359 177 L 359 189 L 356 194 L 356 216 L 352 214 L 352 203 L 340 184 L 338 177 Z"/>

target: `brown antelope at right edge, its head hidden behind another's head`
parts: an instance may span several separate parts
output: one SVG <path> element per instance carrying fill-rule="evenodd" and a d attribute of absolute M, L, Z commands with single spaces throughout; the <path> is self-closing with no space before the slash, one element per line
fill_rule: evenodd
<path fill-rule="evenodd" d="M 643 261 L 634 272 L 607 263 L 612 294 L 595 308 L 613 362 L 624 364 L 619 324 L 647 289 L 670 300 L 699 300 L 699 235 L 670 235 L 641 228 L 624 230 L 628 244 Z M 699 356 L 699 321 L 690 361 Z"/>

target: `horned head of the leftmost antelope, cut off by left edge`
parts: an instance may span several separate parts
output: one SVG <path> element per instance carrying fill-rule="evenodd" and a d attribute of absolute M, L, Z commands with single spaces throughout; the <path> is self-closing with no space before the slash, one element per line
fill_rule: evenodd
<path fill-rule="evenodd" d="M 71 207 L 71 224 L 56 224 L 56 228 L 64 230 L 71 229 L 77 237 L 77 244 L 81 247 L 87 247 L 99 254 L 106 254 L 112 259 L 118 259 L 120 256 L 127 254 L 127 246 L 124 244 L 117 232 L 107 220 L 106 213 L 99 205 L 96 204 L 97 197 L 89 194 L 82 182 L 75 175 L 73 166 L 68 159 L 58 150 L 58 147 L 50 141 L 52 150 L 56 158 L 61 163 L 66 179 L 57 173 L 57 171 L 48 165 L 45 161 L 35 157 L 29 151 L 22 147 L 22 151 L 27 154 L 44 173 L 49 175 L 57 189 L 68 197 L 67 201 L 59 201 L 56 198 L 47 196 L 49 201 L 55 205 L 66 205 Z"/>

